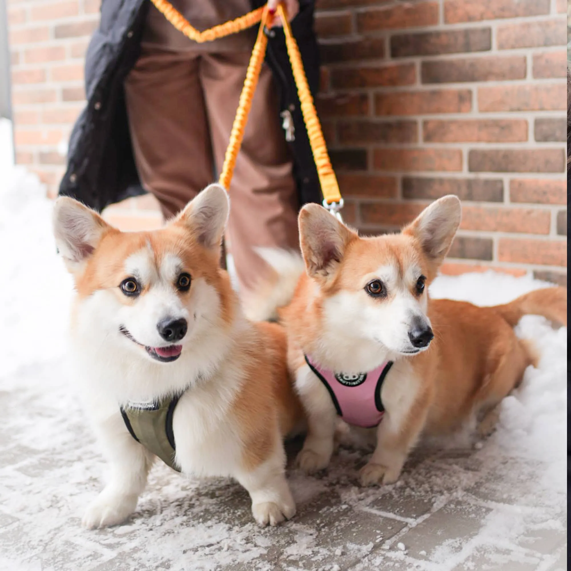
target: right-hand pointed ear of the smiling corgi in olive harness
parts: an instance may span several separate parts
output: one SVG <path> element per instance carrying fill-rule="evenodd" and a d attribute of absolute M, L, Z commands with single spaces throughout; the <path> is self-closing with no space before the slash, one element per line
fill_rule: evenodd
<path fill-rule="evenodd" d="M 184 207 L 175 223 L 188 227 L 208 250 L 218 250 L 229 211 L 226 190 L 220 184 L 210 184 Z"/>

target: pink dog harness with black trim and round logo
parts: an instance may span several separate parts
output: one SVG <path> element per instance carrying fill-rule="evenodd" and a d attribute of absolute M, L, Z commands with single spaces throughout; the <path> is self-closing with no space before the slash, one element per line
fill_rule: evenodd
<path fill-rule="evenodd" d="M 348 424 L 374 428 L 383 419 L 385 408 L 381 402 L 383 381 L 393 361 L 385 361 L 368 373 L 334 373 L 318 367 L 307 355 L 305 362 L 329 391 L 337 414 Z"/>

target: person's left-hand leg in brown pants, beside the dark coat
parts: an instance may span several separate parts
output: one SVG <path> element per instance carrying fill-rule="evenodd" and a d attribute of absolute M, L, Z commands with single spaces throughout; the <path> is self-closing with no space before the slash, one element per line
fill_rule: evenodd
<path fill-rule="evenodd" d="M 199 56 L 146 49 L 125 81 L 135 162 L 165 218 L 212 182 Z"/>

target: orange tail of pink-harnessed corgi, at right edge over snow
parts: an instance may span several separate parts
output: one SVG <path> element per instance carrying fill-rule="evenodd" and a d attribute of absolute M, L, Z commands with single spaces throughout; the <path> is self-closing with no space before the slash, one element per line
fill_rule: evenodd
<path fill-rule="evenodd" d="M 562 287 L 534 289 L 504 305 L 496 305 L 504 319 L 514 327 L 524 315 L 542 315 L 567 326 L 567 290 Z"/>

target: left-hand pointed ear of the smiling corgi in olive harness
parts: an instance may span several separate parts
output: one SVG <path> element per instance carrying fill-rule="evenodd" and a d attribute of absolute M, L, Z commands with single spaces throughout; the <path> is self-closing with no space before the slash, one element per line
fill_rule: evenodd
<path fill-rule="evenodd" d="M 71 272 L 93 254 L 103 233 L 110 228 L 97 212 L 69 196 L 61 196 L 55 201 L 55 244 Z"/>

